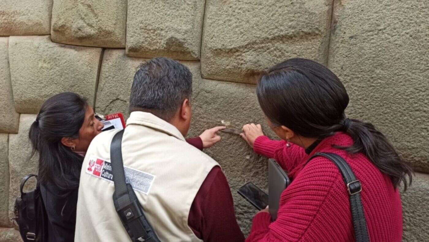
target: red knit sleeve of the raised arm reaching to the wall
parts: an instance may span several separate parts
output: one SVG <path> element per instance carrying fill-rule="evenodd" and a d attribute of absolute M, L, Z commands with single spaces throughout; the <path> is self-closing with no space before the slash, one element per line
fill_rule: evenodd
<path fill-rule="evenodd" d="M 257 137 L 253 150 L 257 154 L 273 158 L 287 171 L 294 169 L 307 156 L 305 150 L 298 145 L 290 143 L 290 147 L 287 147 L 286 141 L 271 140 L 267 136 Z"/>

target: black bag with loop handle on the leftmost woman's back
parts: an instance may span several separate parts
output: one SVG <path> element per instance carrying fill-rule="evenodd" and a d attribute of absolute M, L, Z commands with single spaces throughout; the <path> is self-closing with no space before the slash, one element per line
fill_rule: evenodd
<path fill-rule="evenodd" d="M 24 242 L 44 242 L 48 241 L 48 215 L 43 205 L 39 183 L 33 191 L 27 193 L 22 191 L 25 182 L 33 176 L 37 178 L 37 175 L 30 174 L 21 181 L 21 196 L 15 200 L 13 220 L 18 224 L 19 233 Z"/>

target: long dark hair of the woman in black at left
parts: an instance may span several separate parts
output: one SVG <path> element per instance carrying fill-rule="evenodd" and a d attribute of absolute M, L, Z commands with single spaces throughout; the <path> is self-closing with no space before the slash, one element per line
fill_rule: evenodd
<path fill-rule="evenodd" d="M 63 137 L 79 137 L 88 103 L 78 94 L 65 92 L 43 103 L 28 134 L 34 155 L 39 153 L 38 181 L 60 190 L 79 187 L 83 157 L 61 143 Z"/>

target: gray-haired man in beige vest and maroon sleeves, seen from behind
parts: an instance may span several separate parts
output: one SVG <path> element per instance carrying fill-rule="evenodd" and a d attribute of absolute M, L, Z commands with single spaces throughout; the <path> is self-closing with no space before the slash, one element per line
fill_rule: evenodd
<path fill-rule="evenodd" d="M 133 174 L 128 179 L 161 241 L 243 241 L 219 164 L 185 142 L 191 95 L 192 74 L 184 65 L 168 58 L 141 65 L 122 140 L 124 169 Z M 130 241 L 113 205 L 113 182 L 106 177 L 116 132 L 101 133 L 88 148 L 75 241 Z M 96 167 L 90 171 L 91 163 Z"/>

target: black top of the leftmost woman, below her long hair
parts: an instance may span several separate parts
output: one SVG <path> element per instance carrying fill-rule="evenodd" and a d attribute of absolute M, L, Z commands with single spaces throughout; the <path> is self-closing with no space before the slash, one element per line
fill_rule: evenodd
<path fill-rule="evenodd" d="M 48 242 L 73 242 L 76 228 L 78 188 L 62 191 L 54 184 L 40 185 L 48 214 Z"/>

